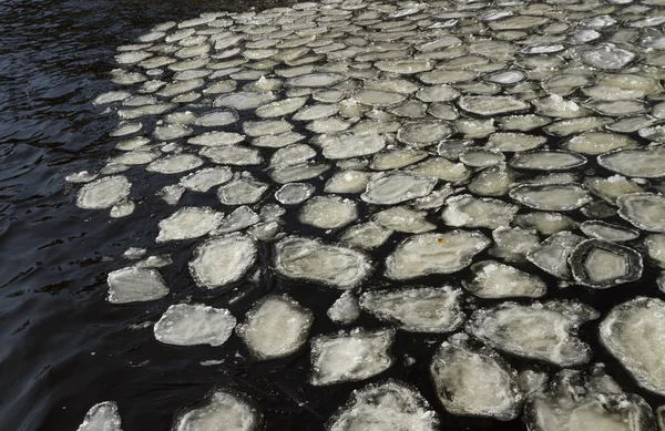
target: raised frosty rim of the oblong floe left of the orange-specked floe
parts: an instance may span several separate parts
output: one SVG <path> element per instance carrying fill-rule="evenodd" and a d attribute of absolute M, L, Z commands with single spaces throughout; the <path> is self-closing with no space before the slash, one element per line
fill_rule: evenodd
<path fill-rule="evenodd" d="M 358 274 L 350 280 L 350 283 L 342 284 L 342 285 L 326 283 L 324 280 L 319 280 L 317 278 L 309 278 L 309 277 L 306 277 L 306 276 L 294 277 L 290 274 L 284 274 L 279 269 L 279 267 L 283 267 L 282 258 L 280 258 L 282 257 L 282 253 L 279 253 L 279 250 L 282 248 L 284 248 L 285 245 L 288 245 L 287 243 L 289 243 L 289 242 L 291 242 L 291 243 L 293 242 L 299 242 L 299 240 L 313 242 L 318 247 L 325 247 L 325 248 L 332 247 L 332 248 L 341 249 L 345 253 L 348 252 L 349 254 L 354 255 L 359 260 L 358 264 L 361 265 L 364 268 L 360 268 L 360 270 L 358 271 Z M 274 258 L 275 269 L 283 277 L 291 279 L 291 280 L 309 281 L 309 283 L 314 283 L 314 284 L 319 285 L 319 286 L 332 287 L 335 289 L 340 289 L 340 290 L 350 290 L 354 287 L 360 285 L 367 278 L 369 278 L 369 276 L 374 273 L 374 268 L 371 266 L 371 259 L 369 258 L 369 255 L 367 253 L 360 252 L 360 250 L 358 250 L 356 248 L 348 247 L 344 243 L 327 244 L 327 243 L 324 243 L 320 238 L 313 238 L 313 237 L 299 236 L 299 235 L 288 235 L 288 236 L 286 236 L 284 238 L 279 239 L 277 243 L 275 243 L 275 245 L 274 245 L 274 252 L 275 252 L 274 253 L 275 254 L 275 258 Z"/>

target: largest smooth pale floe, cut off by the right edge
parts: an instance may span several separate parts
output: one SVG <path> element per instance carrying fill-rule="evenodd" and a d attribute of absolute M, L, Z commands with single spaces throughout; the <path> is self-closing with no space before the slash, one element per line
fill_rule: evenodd
<path fill-rule="evenodd" d="M 631 372 L 637 383 L 665 394 L 665 301 L 637 297 L 612 309 L 601 322 L 603 346 Z"/>

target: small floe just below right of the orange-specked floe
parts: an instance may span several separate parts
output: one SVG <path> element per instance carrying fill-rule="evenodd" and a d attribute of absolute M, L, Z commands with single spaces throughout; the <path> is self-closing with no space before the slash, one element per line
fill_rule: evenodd
<path fill-rule="evenodd" d="M 548 291 L 545 283 L 536 275 L 494 260 L 471 265 L 471 279 L 464 288 L 480 298 L 540 298 Z"/>

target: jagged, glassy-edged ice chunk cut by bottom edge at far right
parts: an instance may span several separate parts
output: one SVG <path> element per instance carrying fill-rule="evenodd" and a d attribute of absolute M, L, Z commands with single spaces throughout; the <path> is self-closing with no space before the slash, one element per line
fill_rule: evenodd
<path fill-rule="evenodd" d="M 562 370 L 549 390 L 535 393 L 525 409 L 533 431 L 655 430 L 651 408 L 638 396 L 623 393 L 608 377 Z"/>

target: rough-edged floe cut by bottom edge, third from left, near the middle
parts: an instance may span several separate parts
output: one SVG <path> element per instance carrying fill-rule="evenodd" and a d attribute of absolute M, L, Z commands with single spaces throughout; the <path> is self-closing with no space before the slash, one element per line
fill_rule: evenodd
<path fill-rule="evenodd" d="M 424 398 L 398 381 L 370 384 L 352 392 L 328 431 L 436 431 L 439 418 Z"/>

